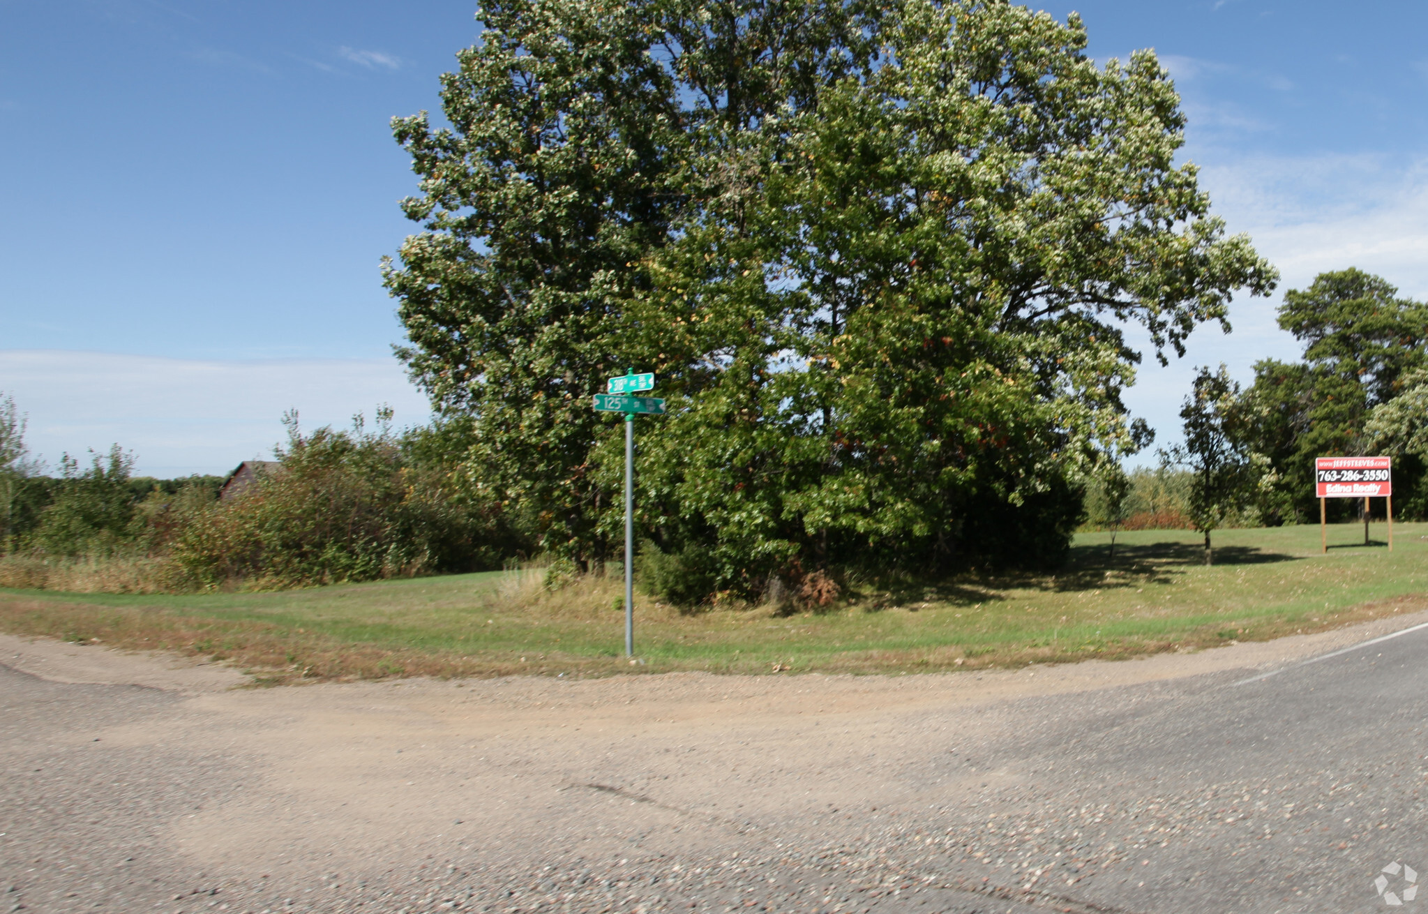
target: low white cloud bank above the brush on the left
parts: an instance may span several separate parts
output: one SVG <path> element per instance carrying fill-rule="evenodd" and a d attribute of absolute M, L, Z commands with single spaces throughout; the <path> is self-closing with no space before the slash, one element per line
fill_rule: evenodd
<path fill-rule="evenodd" d="M 426 398 L 391 358 L 200 361 L 61 350 L 0 350 L 0 390 L 30 417 L 26 441 L 53 467 L 63 451 L 119 443 L 137 473 L 227 473 L 283 440 L 281 416 L 304 428 L 368 420 L 390 403 L 398 426 L 426 421 Z"/>

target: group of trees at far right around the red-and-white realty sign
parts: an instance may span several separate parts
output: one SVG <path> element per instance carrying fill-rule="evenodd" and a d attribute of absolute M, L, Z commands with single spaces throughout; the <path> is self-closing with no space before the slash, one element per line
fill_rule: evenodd
<path fill-rule="evenodd" d="M 1317 457 L 1394 457 L 1395 514 L 1428 516 L 1428 306 L 1351 267 L 1287 291 L 1278 318 L 1304 360 L 1255 363 L 1248 388 L 1225 366 L 1200 368 L 1181 408 L 1184 441 L 1161 451 L 1155 478 L 1180 474 L 1177 511 L 1205 534 L 1207 563 L 1210 534 L 1227 523 L 1317 521 Z M 1151 478 L 1141 473 L 1127 488 L 1118 474 L 1112 464 L 1094 480 L 1091 523 L 1122 524 L 1117 494 Z M 1329 498 L 1327 508 L 1331 521 L 1357 518 L 1364 500 Z"/>

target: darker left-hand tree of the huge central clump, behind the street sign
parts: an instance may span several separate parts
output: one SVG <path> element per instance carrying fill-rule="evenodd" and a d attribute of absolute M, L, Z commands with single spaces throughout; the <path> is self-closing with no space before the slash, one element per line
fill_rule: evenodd
<path fill-rule="evenodd" d="M 421 176 L 404 209 L 424 224 L 386 268 L 400 354 L 443 414 L 474 418 L 477 486 L 543 547 L 608 551 L 591 451 L 611 430 L 585 394 L 660 361 L 627 313 L 644 261 L 698 221 L 693 196 L 741 193 L 738 134 L 865 63 L 860 16 L 818 0 L 493 0 L 443 77 L 450 126 L 394 120 Z M 710 156 L 733 171 L 701 171 Z"/>

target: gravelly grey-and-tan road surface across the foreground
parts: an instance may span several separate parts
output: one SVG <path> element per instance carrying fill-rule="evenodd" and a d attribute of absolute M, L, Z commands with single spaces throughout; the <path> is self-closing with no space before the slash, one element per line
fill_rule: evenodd
<path fill-rule="evenodd" d="M 1412 910 L 1422 623 L 1018 673 L 268 690 L 0 638 L 0 914 Z"/>

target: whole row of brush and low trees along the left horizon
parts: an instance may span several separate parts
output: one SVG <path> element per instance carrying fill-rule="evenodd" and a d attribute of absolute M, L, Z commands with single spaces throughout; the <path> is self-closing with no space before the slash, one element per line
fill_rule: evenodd
<path fill-rule="evenodd" d="M 378 410 L 371 430 L 358 416 L 351 430 L 303 433 L 288 416 L 276 468 L 220 501 L 223 477 L 136 477 L 117 444 L 43 474 L 13 398 L 0 400 L 0 586 L 296 587 L 481 570 L 518 554 L 433 446 L 450 431 L 398 434 L 390 418 Z"/>

